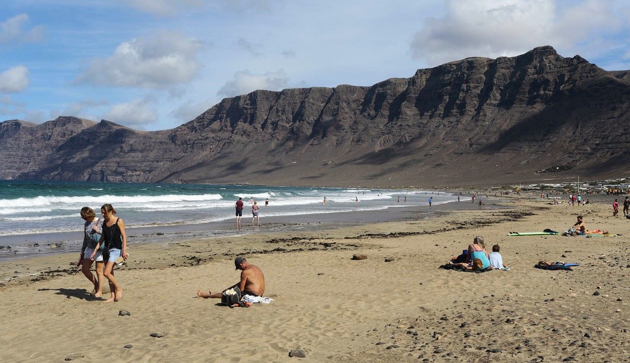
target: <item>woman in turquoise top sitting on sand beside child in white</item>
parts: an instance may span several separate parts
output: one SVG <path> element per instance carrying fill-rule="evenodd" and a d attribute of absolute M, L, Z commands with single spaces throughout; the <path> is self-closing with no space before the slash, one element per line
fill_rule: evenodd
<path fill-rule="evenodd" d="M 449 264 L 464 270 L 504 270 L 508 271 L 510 267 L 503 264 L 503 257 L 499 253 L 501 247 L 499 245 L 492 246 L 492 252 L 489 254 L 483 237 L 477 236 L 473 243 L 468 246 L 467 250 L 459 256 L 453 256 Z"/>

